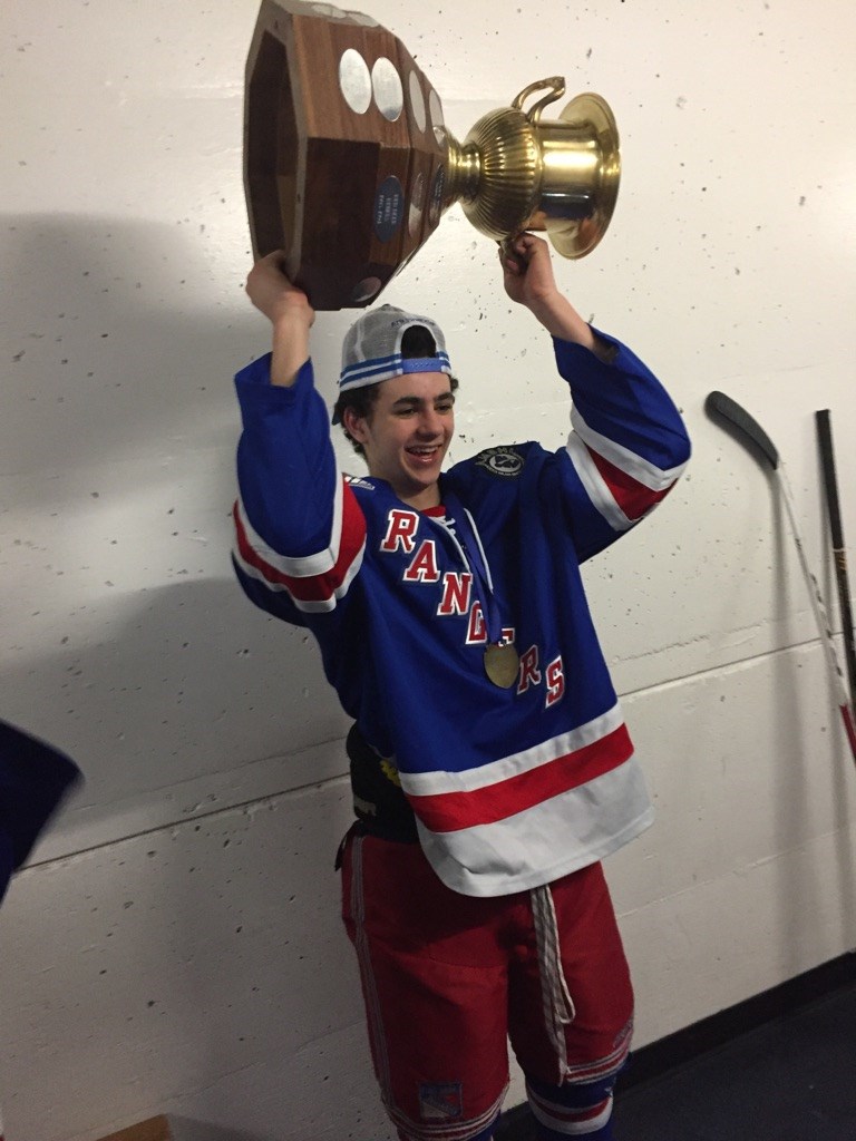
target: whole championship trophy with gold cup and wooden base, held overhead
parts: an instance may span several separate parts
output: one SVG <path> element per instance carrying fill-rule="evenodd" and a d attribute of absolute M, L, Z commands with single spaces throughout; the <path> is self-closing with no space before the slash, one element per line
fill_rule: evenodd
<path fill-rule="evenodd" d="M 560 76 L 531 83 L 458 143 L 421 68 L 371 16 L 261 0 L 244 100 L 255 256 L 284 250 L 316 309 L 365 306 L 460 202 L 486 237 L 546 230 L 583 257 L 615 207 L 619 132 L 593 94 L 543 120 L 564 94 Z"/>

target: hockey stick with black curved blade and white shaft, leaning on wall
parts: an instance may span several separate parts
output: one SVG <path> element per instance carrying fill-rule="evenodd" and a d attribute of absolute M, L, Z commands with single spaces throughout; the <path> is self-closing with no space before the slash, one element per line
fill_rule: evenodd
<path fill-rule="evenodd" d="M 726 396 L 725 393 L 710 393 L 708 399 L 704 402 L 704 407 L 709 413 L 718 413 L 729 423 L 734 424 L 735 428 L 738 428 L 766 458 L 774 475 L 776 476 L 776 479 L 778 480 L 778 486 L 782 489 L 782 497 L 784 499 L 788 511 L 788 520 L 791 525 L 791 534 L 793 535 L 793 541 L 797 544 L 797 553 L 799 555 L 800 566 L 806 580 L 806 586 L 808 588 L 808 594 L 811 599 L 811 608 L 815 614 L 815 621 L 817 622 L 817 629 L 821 632 L 821 640 L 823 642 L 824 650 L 826 652 L 826 664 L 829 666 L 830 678 L 832 679 L 834 687 L 835 701 L 838 702 L 838 707 L 841 712 L 841 720 L 845 723 L 845 733 L 847 734 L 847 741 L 850 745 L 854 763 L 856 763 L 856 725 L 854 723 L 853 711 L 847 696 L 845 675 L 841 672 L 838 654 L 835 653 L 835 642 L 833 640 L 829 615 L 826 614 L 826 606 L 823 601 L 823 594 L 821 593 L 821 588 L 817 584 L 817 578 L 811 572 L 811 568 L 808 565 L 808 559 L 806 558 L 802 539 L 797 525 L 797 510 L 793 504 L 793 495 L 791 494 L 791 487 L 784 471 L 784 464 L 778 455 L 778 450 L 758 421 L 754 420 L 745 408 L 742 408 L 736 400 L 733 400 L 730 396 Z"/>

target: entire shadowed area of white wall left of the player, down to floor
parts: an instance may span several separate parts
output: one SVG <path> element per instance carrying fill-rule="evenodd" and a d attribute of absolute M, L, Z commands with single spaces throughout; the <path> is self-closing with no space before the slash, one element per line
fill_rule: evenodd
<path fill-rule="evenodd" d="M 232 374 L 267 331 L 181 230 L 32 217 L 3 238 L 2 715 L 87 778 L 59 822 L 78 855 L 3 908 L 8 1124 L 82 1136 L 148 1106 L 194 1138 L 342 1135 L 313 1124 L 321 1083 L 342 1118 L 375 1100 L 332 867 L 350 796 L 316 788 L 346 719 L 228 560 Z"/>

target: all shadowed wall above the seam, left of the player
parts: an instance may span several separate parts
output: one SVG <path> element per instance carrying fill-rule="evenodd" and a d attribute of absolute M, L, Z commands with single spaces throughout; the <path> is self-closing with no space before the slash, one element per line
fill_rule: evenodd
<path fill-rule="evenodd" d="M 194 782 L 266 759 L 286 760 L 226 803 L 305 783 L 288 758 L 346 721 L 308 636 L 229 566 L 232 374 L 268 342 L 243 278 L 163 225 L 35 216 L 5 237 L 3 715 L 79 761 L 83 823 L 181 818 Z M 345 771 L 337 748 L 316 779 Z"/>

